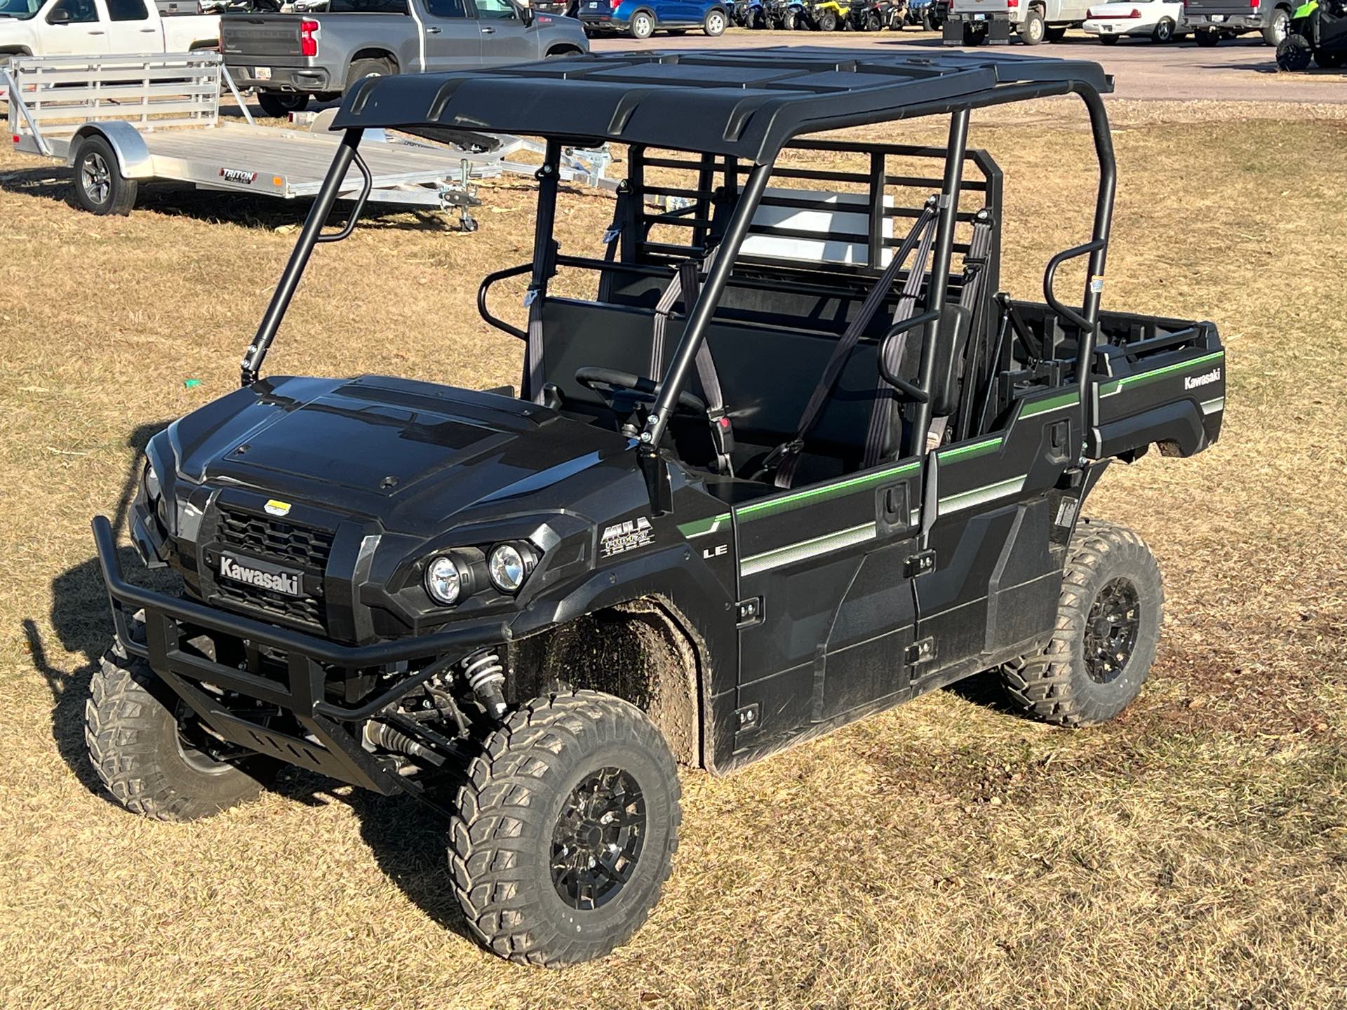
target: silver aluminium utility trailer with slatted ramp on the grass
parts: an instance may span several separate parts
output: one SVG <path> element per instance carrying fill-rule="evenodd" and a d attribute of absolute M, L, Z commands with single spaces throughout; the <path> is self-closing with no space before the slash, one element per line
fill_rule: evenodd
<path fill-rule="evenodd" d="M 221 117 L 226 90 L 242 123 Z M 15 149 L 71 166 L 75 201 L 94 214 L 129 213 L 139 184 L 150 180 L 311 198 L 337 154 L 338 137 L 322 128 L 326 116 L 311 129 L 257 125 L 216 53 L 16 59 L 0 69 L 0 94 Z M 380 132 L 337 199 L 365 194 L 379 203 L 457 207 L 461 226 L 473 230 L 473 180 L 531 174 L 536 166 L 506 159 L 541 151 L 520 137 L 482 140 L 490 143 L 459 151 Z M 602 184 L 605 164 L 599 152 L 571 154 L 563 176 Z"/>

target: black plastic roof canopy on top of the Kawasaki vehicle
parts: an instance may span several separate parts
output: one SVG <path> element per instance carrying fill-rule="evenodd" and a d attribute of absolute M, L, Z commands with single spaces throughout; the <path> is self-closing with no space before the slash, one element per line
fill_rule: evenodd
<path fill-rule="evenodd" d="M 775 46 L 590 53 L 362 81 L 333 129 L 612 140 L 770 162 L 791 137 L 956 108 L 1113 90 L 1098 63 L 1012 54 Z"/>

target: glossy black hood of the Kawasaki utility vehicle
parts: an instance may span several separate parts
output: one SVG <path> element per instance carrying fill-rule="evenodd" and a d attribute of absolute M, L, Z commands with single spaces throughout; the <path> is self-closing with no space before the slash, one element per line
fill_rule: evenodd
<path fill-rule="evenodd" d="M 630 440 L 613 431 L 509 396 L 380 376 L 260 381 L 175 422 L 170 440 L 189 481 L 416 535 L 474 505 L 525 508 L 597 466 L 634 467 Z"/>

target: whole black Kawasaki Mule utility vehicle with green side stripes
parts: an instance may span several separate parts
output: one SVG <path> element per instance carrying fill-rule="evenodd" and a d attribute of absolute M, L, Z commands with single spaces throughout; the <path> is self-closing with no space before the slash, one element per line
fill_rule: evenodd
<path fill-rule="evenodd" d="M 723 773 L 979 671 L 1053 723 L 1117 715 L 1160 572 L 1082 504 L 1114 459 L 1210 446 L 1226 373 L 1211 323 L 1100 311 L 1110 89 L 1090 62 L 835 48 L 362 81 L 242 388 L 150 443 L 133 539 L 180 595 L 127 582 L 94 520 L 113 796 L 198 817 L 277 760 L 414 793 L 450 815 L 482 941 L 563 964 L 655 905 L 678 764 Z M 1088 113 L 1094 228 L 1021 302 L 968 117 L 1055 94 Z M 915 116 L 948 145 L 807 136 Z M 547 140 L 533 261 L 480 292 L 527 345 L 521 395 L 261 377 L 315 242 L 354 226 L 322 232 L 362 131 L 465 124 Z M 554 241 L 558 162 L 599 141 L 629 175 L 590 259 Z M 490 311 L 512 276 L 527 325 Z"/>

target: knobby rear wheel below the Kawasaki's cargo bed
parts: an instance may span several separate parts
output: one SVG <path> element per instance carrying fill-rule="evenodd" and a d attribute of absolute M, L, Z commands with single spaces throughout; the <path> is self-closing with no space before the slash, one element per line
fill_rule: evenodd
<path fill-rule="evenodd" d="M 1059 726 L 1113 719 L 1150 672 L 1162 610 L 1160 566 L 1145 540 L 1125 527 L 1082 520 L 1048 645 L 1001 668 L 1010 699 Z"/>

